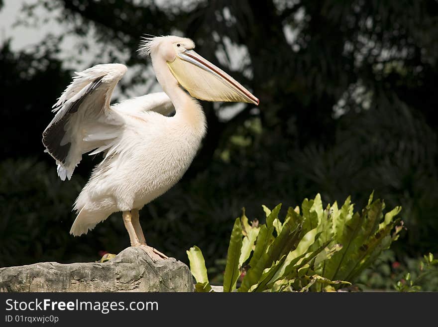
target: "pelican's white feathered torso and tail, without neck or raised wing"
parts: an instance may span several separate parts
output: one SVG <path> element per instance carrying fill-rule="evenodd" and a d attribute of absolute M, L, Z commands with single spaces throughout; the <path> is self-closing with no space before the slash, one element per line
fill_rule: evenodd
<path fill-rule="evenodd" d="M 175 185 L 193 161 L 206 132 L 203 111 L 195 125 L 188 124 L 178 112 L 167 117 L 141 111 L 142 98 L 111 108 L 124 122 L 114 142 L 123 150 L 94 169 L 75 204 L 73 234 L 86 233 L 114 212 L 141 209 Z"/>

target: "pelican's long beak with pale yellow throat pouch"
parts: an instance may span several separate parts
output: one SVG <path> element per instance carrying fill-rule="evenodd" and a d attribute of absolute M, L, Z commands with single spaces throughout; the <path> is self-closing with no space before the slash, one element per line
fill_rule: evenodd
<path fill-rule="evenodd" d="M 240 83 L 193 50 L 178 53 L 176 59 L 167 65 L 178 83 L 192 97 L 207 101 L 259 104 L 259 100 Z"/>

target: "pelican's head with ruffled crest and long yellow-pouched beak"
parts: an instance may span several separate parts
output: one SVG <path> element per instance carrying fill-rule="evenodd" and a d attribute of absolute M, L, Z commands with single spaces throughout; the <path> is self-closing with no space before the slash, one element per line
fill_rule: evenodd
<path fill-rule="evenodd" d="M 194 98 L 259 104 L 240 83 L 197 54 L 194 48 L 191 39 L 169 35 L 145 38 L 139 50 L 141 54 L 150 54 L 152 62 L 164 60 L 178 83 Z"/>

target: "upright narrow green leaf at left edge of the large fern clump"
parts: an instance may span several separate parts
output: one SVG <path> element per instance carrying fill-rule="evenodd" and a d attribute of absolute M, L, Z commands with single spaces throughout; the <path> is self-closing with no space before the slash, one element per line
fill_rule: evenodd
<path fill-rule="evenodd" d="M 223 292 L 232 292 L 236 288 L 240 276 L 239 258 L 242 248 L 242 227 L 240 218 L 236 218 L 231 231 L 228 253 L 226 257 L 225 274 L 223 276 Z"/>

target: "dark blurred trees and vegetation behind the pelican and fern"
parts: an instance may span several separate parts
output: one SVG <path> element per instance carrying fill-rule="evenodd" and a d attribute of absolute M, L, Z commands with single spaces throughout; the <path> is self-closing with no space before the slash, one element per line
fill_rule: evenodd
<path fill-rule="evenodd" d="M 136 52 L 144 33 L 190 37 L 260 99 L 227 120 L 219 112 L 229 104 L 203 102 L 209 131 L 198 156 L 140 213 L 149 244 L 185 262 L 196 244 L 207 266 L 218 266 L 242 207 L 261 219 L 262 204 L 295 206 L 321 193 L 326 205 L 351 195 L 360 208 L 375 190 L 388 209 L 403 207 L 408 227 L 384 260 L 438 251 L 437 1 L 34 2 L 21 24 L 43 25 L 45 7 L 66 29 L 25 51 L 8 39 L 0 45 L 0 266 L 97 260 L 98 251 L 129 245 L 120 214 L 86 236 L 68 234 L 72 204 L 100 158 L 87 156 L 61 182 L 43 153 L 51 105 L 73 73 L 58 56 L 69 35 L 78 47 L 124 54 L 106 51 L 90 65 L 144 70 L 149 60 Z M 230 44 L 247 49 L 238 65 L 226 65 Z M 134 74 L 122 94 L 134 84 L 136 95 L 149 92 L 144 82 Z"/>

